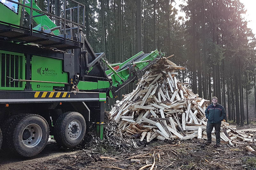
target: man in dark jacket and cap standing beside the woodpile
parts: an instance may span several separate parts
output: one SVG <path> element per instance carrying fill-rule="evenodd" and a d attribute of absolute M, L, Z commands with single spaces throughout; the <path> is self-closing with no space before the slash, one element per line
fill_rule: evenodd
<path fill-rule="evenodd" d="M 212 97 L 212 104 L 210 104 L 205 110 L 205 117 L 208 119 L 206 126 L 207 144 L 212 143 L 212 129 L 215 128 L 216 145 L 214 147 L 220 147 L 220 124 L 226 117 L 226 111 L 224 107 L 218 104 L 218 98 Z"/>

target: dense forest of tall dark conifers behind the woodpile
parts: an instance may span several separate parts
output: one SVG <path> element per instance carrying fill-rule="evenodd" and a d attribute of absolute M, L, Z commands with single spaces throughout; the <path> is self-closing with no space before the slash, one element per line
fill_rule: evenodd
<path fill-rule="evenodd" d="M 186 67 L 178 74 L 180 82 L 189 83 L 204 99 L 218 97 L 229 122 L 243 126 L 255 121 L 256 40 L 240 0 L 77 1 L 85 5 L 87 40 L 94 52 L 105 52 L 110 63 L 141 50 L 174 54 L 170 60 Z M 61 3 L 52 0 L 55 9 Z M 117 99 L 134 85 L 127 85 Z"/>

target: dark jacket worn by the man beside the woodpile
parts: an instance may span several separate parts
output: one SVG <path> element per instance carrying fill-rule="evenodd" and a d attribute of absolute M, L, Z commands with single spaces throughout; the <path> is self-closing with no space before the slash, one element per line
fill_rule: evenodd
<path fill-rule="evenodd" d="M 216 104 L 216 106 L 210 104 L 205 110 L 205 117 L 208 119 L 210 123 L 218 123 L 220 124 L 221 121 L 226 117 L 226 111 L 224 107 L 220 104 Z"/>

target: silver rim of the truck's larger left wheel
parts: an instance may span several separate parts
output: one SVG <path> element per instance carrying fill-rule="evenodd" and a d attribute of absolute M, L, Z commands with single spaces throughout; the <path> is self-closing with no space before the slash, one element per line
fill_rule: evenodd
<path fill-rule="evenodd" d="M 22 142 L 25 146 L 32 148 L 40 143 L 43 136 L 42 128 L 35 123 L 29 124 L 22 133 Z"/>

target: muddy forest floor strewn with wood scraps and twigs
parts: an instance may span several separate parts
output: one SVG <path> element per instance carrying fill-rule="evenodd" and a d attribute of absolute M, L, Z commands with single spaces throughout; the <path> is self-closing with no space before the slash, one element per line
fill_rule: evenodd
<path fill-rule="evenodd" d="M 170 169 L 256 169 L 256 157 L 245 150 L 245 145 L 230 147 L 221 144 L 205 146 L 202 140 L 139 142 L 139 148 L 116 148 L 107 145 L 76 149 L 60 148 L 50 141 L 43 152 L 33 158 L 20 158 L 0 152 L 0 169 L 86 169 L 86 170 L 133 170 L 152 164 L 155 168 Z M 163 146 L 166 145 L 166 146 Z M 256 145 L 251 144 L 256 150 Z M 127 159 L 136 155 L 145 155 Z M 158 156 L 159 155 L 159 156 Z M 104 159 L 100 157 L 109 157 Z M 145 169 L 150 169 L 147 167 Z"/>

